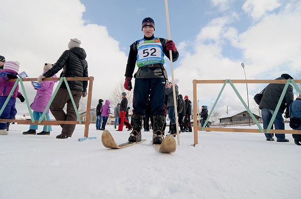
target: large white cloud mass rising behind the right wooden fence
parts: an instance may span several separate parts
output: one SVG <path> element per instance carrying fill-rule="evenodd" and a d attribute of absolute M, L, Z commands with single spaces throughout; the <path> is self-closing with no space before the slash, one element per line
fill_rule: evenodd
<path fill-rule="evenodd" d="M 194 41 L 189 42 L 193 44 L 194 52 L 186 53 L 175 69 L 175 77 L 181 80 L 180 93 L 188 93 L 192 98 L 193 79 L 245 79 L 241 62 L 245 63 L 247 79 L 275 79 L 282 73 L 294 74 L 300 70 L 301 28 L 297 26 L 301 19 L 300 2 L 281 7 L 277 14 L 266 13 L 261 21 L 244 32 L 231 26 L 235 19 L 227 16 L 216 18 L 200 30 Z M 241 49 L 243 57 L 226 57 L 227 41 L 232 47 Z M 181 46 L 188 48 L 188 45 Z M 250 107 L 261 86 L 264 85 L 248 84 Z M 246 85 L 237 84 L 235 87 L 247 102 Z M 201 84 L 197 88 L 200 103 L 212 107 L 222 85 Z M 244 109 L 230 85 L 226 85 L 216 110 L 224 112 L 226 104 L 231 110 Z"/>

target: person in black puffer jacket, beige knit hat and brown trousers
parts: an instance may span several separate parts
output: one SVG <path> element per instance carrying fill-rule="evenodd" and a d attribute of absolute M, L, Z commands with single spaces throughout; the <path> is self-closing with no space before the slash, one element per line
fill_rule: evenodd
<path fill-rule="evenodd" d="M 54 74 L 63 69 L 60 77 L 88 77 L 88 63 L 85 60 L 87 57 L 83 48 L 80 48 L 80 40 L 70 39 L 68 44 L 69 50 L 64 51 L 57 62 L 48 71 L 38 77 L 38 83 L 42 79 L 52 77 Z M 75 106 L 78 109 L 79 100 L 87 96 L 88 81 L 68 81 Z M 67 103 L 67 114 L 63 111 Z M 67 86 L 63 82 L 58 92 L 56 93 L 51 105 L 50 111 L 59 121 L 76 121 L 77 116 L 73 107 L 71 97 L 67 91 Z M 57 139 L 65 139 L 71 137 L 75 129 L 75 124 L 60 124 L 62 133 L 58 135 Z"/>

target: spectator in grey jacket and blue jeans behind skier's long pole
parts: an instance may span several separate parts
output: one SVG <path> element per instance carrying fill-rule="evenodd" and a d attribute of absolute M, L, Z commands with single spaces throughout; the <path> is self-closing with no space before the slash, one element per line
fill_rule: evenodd
<path fill-rule="evenodd" d="M 179 83 L 179 80 L 175 79 L 176 99 L 178 98 L 178 95 L 179 95 L 178 83 Z M 168 118 L 170 119 L 168 133 L 170 133 L 172 135 L 175 135 L 175 134 L 177 134 L 177 131 L 176 131 L 176 113 L 175 113 L 174 93 L 173 93 L 173 84 L 172 84 L 172 82 L 170 82 L 169 87 L 166 88 L 165 94 L 168 96 L 166 108 L 168 110 Z M 177 102 L 176 102 L 176 104 L 177 104 Z"/>

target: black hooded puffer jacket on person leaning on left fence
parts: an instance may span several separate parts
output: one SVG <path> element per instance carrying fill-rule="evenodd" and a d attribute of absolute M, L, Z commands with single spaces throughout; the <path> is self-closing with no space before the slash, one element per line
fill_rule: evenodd
<path fill-rule="evenodd" d="M 88 77 L 86 57 L 87 55 L 83 48 L 73 47 L 70 50 L 66 50 L 52 68 L 46 71 L 43 76 L 46 78 L 52 77 L 63 69 L 60 77 Z M 72 90 L 86 92 L 88 81 L 68 81 L 68 85 Z M 62 83 L 60 87 L 67 88 L 65 83 Z"/>

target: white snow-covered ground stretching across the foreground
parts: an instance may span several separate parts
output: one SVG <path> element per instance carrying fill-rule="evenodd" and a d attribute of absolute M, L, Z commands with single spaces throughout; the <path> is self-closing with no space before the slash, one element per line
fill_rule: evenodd
<path fill-rule="evenodd" d="M 180 134 L 172 154 L 158 153 L 147 142 L 107 149 L 102 131 L 90 125 L 89 137 L 22 135 L 28 125 L 10 125 L 0 136 L 0 199 L 300 199 L 301 147 L 267 142 L 260 133 L 198 132 Z M 42 126 L 39 126 L 40 132 Z M 289 129 L 289 128 L 287 128 Z M 117 143 L 129 132 L 107 126 Z"/>

